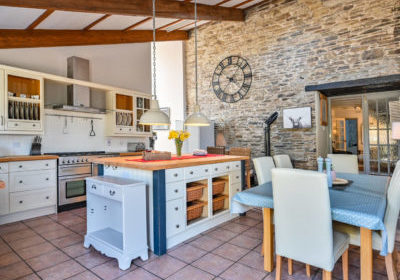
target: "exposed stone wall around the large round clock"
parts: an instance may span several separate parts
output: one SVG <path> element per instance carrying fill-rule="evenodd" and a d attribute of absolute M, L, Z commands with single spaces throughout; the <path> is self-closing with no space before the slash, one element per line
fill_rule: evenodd
<path fill-rule="evenodd" d="M 276 0 L 247 12 L 245 22 L 200 27 L 199 102 L 224 123 L 229 146 L 264 154 L 263 123 L 272 127 L 272 153 L 288 153 L 299 167 L 315 166 L 315 93 L 308 84 L 400 73 L 399 0 Z M 230 55 L 247 59 L 253 83 L 244 100 L 221 102 L 211 87 L 217 64 Z M 186 43 L 187 106 L 195 102 L 194 38 Z M 282 109 L 311 106 L 311 129 L 283 129 Z"/>

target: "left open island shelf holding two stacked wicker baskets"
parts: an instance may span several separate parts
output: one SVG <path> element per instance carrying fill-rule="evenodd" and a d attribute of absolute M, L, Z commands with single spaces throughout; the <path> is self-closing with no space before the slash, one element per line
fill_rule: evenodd
<path fill-rule="evenodd" d="M 199 180 L 186 184 L 187 225 L 208 218 L 208 180 Z"/>

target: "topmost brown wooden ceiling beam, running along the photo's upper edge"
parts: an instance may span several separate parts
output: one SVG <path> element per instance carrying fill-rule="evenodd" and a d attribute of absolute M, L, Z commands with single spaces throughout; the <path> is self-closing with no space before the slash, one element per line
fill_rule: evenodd
<path fill-rule="evenodd" d="M 72 12 L 151 16 L 152 0 L 0 0 L 2 6 L 54 9 Z M 240 9 L 197 4 L 199 20 L 244 21 Z M 193 19 L 194 4 L 186 1 L 157 0 L 156 16 L 176 19 Z"/>

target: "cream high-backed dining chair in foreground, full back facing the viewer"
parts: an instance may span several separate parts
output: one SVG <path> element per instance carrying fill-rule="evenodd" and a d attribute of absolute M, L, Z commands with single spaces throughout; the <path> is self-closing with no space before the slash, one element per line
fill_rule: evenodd
<path fill-rule="evenodd" d="M 349 236 L 333 231 L 327 177 L 309 170 L 274 168 L 276 276 L 282 275 L 282 257 L 323 269 L 323 279 L 332 279 L 336 261 L 342 257 L 343 279 L 348 279 Z M 308 275 L 309 276 L 309 275 Z"/>

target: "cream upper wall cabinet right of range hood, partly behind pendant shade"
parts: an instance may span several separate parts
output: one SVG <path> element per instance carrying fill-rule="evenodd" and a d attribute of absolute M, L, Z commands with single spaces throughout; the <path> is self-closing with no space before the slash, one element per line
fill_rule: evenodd
<path fill-rule="evenodd" d="M 150 136 L 150 127 L 139 124 L 150 106 L 149 98 L 115 91 L 106 94 L 108 136 Z"/>

